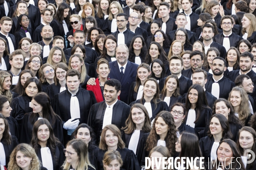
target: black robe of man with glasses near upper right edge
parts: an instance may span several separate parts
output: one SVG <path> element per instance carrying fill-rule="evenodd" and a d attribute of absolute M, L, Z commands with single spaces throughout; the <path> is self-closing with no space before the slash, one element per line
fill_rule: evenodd
<path fill-rule="evenodd" d="M 239 41 L 243 40 L 242 37 L 240 37 L 235 33 L 232 33 L 228 38 L 230 39 L 230 47 L 236 47 L 236 48 Z M 224 34 L 221 33 L 221 34 L 215 35 L 212 40 L 215 42 L 218 42 L 220 45 L 223 45 Z"/>

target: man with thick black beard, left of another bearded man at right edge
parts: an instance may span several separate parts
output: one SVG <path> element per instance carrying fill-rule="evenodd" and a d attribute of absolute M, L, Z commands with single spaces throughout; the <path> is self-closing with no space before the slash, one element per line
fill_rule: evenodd
<path fill-rule="evenodd" d="M 221 57 L 215 57 L 212 60 L 212 77 L 208 78 L 205 89 L 213 96 L 227 99 L 235 83 L 224 77 L 224 71 L 227 70 L 226 60 Z"/>

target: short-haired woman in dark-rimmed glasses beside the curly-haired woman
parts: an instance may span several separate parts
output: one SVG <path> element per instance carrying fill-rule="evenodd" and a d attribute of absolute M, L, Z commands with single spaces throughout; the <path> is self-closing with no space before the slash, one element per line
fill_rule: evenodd
<path fill-rule="evenodd" d="M 184 124 L 184 119 L 186 117 L 186 108 L 184 104 L 177 102 L 172 105 L 170 110 L 174 118 L 176 129 L 178 130 L 178 136 L 186 131 L 194 133 L 198 138 L 200 138 L 199 133 L 195 128 Z"/>

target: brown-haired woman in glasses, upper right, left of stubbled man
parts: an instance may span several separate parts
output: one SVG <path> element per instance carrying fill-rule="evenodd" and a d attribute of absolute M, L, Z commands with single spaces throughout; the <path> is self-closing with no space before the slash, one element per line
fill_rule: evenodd
<path fill-rule="evenodd" d="M 192 45 L 189 42 L 188 33 L 184 28 L 178 28 L 177 31 L 175 31 L 173 40 L 180 40 L 183 44 L 184 51 L 192 51 Z"/>

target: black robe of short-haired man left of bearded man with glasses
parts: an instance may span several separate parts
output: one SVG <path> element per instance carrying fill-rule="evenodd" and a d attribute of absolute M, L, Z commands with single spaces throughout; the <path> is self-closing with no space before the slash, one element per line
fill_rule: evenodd
<path fill-rule="evenodd" d="M 164 77 L 164 78 L 159 80 L 158 85 L 159 85 L 160 91 L 163 90 L 166 78 L 167 77 Z M 190 86 L 192 86 L 192 80 L 183 76 L 183 75 L 181 75 L 180 78 L 179 78 L 179 81 L 180 81 L 180 95 L 182 96 L 183 94 L 187 93 Z"/>

